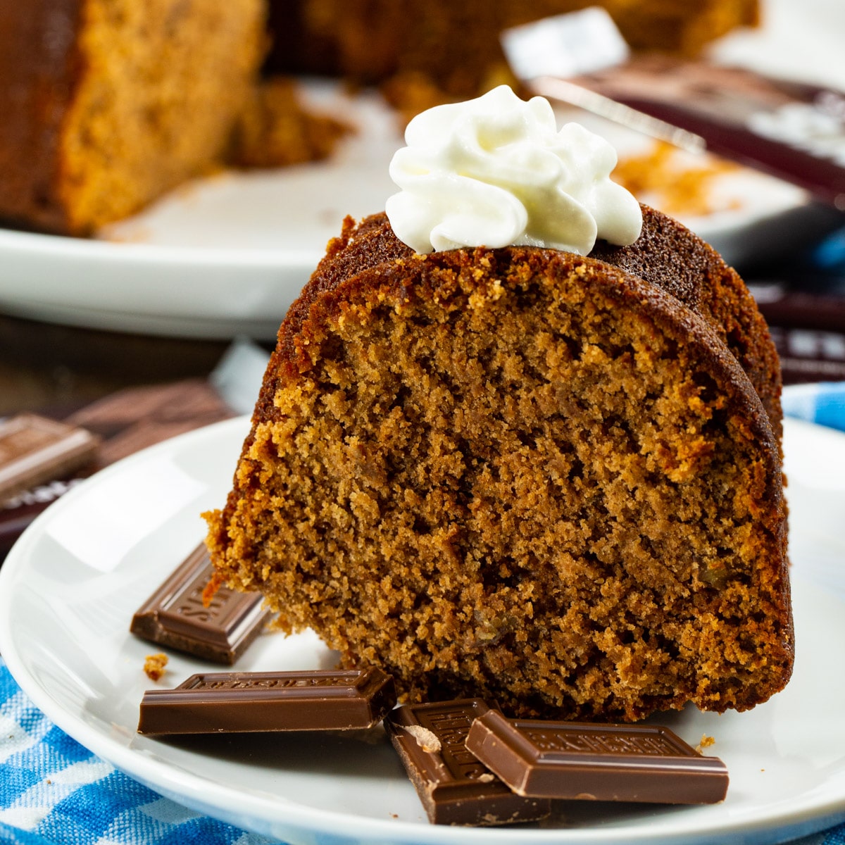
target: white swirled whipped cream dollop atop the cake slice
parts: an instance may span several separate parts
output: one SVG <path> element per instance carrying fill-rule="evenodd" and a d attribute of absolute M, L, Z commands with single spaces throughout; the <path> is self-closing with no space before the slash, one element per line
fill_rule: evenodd
<path fill-rule="evenodd" d="M 529 245 L 589 254 L 598 237 L 639 237 L 640 204 L 609 179 L 611 144 L 579 123 L 558 130 L 542 97 L 507 85 L 414 117 L 390 162 L 385 210 L 417 253 Z"/>

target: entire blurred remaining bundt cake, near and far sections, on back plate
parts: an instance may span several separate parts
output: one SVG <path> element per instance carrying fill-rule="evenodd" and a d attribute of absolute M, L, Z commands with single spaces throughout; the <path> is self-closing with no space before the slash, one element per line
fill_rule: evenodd
<path fill-rule="evenodd" d="M 269 6 L 268 6 L 269 4 Z M 90 234 L 210 168 L 328 155 L 265 71 L 378 83 L 403 119 L 487 90 L 499 31 L 584 0 L 31 0 L 0 8 L 0 220 Z M 603 0 L 638 48 L 690 53 L 755 22 L 755 0 Z M 269 24 L 268 24 L 269 20 Z"/>

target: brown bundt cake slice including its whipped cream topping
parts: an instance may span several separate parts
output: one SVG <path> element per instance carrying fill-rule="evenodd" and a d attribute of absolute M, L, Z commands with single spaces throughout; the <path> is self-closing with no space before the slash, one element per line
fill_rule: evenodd
<path fill-rule="evenodd" d="M 545 101 L 406 137 L 390 220 L 346 221 L 281 325 L 207 515 L 221 579 L 411 701 L 766 701 L 793 661 L 780 376 L 739 277 Z"/>

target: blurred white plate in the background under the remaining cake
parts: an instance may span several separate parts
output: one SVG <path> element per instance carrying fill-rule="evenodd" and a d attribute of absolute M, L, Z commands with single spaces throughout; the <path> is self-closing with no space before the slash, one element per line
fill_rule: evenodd
<path fill-rule="evenodd" d="M 0 229 L 0 310 L 96 329 L 275 338 L 343 217 L 384 209 L 395 191 L 390 157 L 402 144 L 374 95 L 349 98 L 317 84 L 303 91 L 357 127 L 330 161 L 190 183 L 97 239 Z M 639 135 L 591 127 L 607 128 L 623 154 L 641 147 Z M 733 172 L 716 193 L 727 210 L 683 221 L 730 264 L 830 225 L 804 191 L 761 173 Z"/>

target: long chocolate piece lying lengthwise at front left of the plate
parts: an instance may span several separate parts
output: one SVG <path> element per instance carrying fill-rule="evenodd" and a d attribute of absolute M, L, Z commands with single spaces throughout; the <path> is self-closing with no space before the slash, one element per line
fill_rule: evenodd
<path fill-rule="evenodd" d="M 147 690 L 139 733 L 252 733 L 372 728 L 395 706 L 393 678 L 377 668 L 191 675 Z"/>

